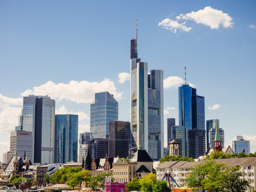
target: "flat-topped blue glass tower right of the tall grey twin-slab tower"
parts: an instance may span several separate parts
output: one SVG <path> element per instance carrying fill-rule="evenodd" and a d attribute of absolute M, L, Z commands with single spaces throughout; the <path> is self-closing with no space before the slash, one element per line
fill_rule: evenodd
<path fill-rule="evenodd" d="M 55 161 L 56 163 L 77 162 L 78 115 L 55 115 Z"/>

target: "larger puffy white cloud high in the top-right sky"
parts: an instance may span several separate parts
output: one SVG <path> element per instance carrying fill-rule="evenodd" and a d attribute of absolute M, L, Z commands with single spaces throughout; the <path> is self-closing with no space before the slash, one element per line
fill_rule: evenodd
<path fill-rule="evenodd" d="M 232 18 L 223 11 L 213 9 L 211 6 L 205 7 L 203 10 L 197 12 L 192 11 L 187 14 L 180 14 L 176 17 L 178 20 L 193 20 L 196 23 L 202 23 L 209 26 L 211 29 L 219 29 L 220 26 L 224 28 L 233 27 Z"/>

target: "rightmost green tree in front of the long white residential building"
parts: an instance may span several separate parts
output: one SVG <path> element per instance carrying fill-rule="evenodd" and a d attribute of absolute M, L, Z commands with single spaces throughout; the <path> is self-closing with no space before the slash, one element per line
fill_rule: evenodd
<path fill-rule="evenodd" d="M 241 179 L 243 172 L 240 171 L 241 167 L 226 166 L 222 171 L 221 180 L 223 192 L 243 192 L 249 187 L 248 181 Z"/>

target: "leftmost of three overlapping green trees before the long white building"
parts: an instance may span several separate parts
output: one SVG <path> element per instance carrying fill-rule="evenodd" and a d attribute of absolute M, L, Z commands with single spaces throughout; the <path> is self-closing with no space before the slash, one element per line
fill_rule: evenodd
<path fill-rule="evenodd" d="M 191 167 L 190 175 L 183 181 L 190 188 L 205 191 L 204 183 L 202 181 L 210 174 L 213 164 L 215 164 L 215 161 L 206 161 Z"/>

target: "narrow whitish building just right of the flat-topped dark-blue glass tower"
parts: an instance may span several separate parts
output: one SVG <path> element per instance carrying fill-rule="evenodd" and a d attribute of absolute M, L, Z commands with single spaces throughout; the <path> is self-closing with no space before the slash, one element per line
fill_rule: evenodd
<path fill-rule="evenodd" d="M 82 162 L 86 158 L 88 152 L 88 143 L 90 141 L 90 132 L 79 134 L 79 157 L 78 162 Z"/>

